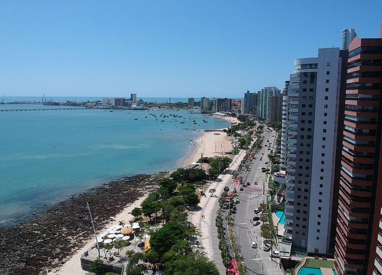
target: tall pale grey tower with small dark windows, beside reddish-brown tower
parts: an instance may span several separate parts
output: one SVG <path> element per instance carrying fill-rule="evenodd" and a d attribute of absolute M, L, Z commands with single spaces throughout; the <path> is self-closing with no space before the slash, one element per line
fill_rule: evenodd
<path fill-rule="evenodd" d="M 334 240 L 333 190 L 339 176 L 334 166 L 339 161 L 337 133 L 343 125 L 339 114 L 344 108 L 346 62 L 347 51 L 339 48 L 319 49 L 318 57 L 296 59 L 284 96 L 284 234 L 294 247 L 312 254 L 329 253 Z"/>

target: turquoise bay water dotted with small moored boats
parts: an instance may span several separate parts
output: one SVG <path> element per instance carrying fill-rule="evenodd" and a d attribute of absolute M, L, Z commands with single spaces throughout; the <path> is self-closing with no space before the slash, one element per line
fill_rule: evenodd
<path fill-rule="evenodd" d="M 162 113 L 183 118 L 163 119 Z M 188 111 L 0 112 L 0 224 L 114 178 L 174 170 L 201 130 L 228 126 Z"/>

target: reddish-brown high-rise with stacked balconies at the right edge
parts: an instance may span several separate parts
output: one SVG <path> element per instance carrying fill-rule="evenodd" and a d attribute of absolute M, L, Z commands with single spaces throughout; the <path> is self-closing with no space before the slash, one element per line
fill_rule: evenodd
<path fill-rule="evenodd" d="M 382 36 L 381 36 L 382 37 Z M 349 46 L 335 269 L 382 274 L 382 38 Z"/>

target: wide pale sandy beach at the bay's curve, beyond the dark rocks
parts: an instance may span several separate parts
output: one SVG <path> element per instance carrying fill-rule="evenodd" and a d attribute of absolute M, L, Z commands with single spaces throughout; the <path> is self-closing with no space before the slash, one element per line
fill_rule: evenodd
<path fill-rule="evenodd" d="M 225 116 L 215 117 L 226 120 L 231 124 L 239 123 L 237 118 Z M 199 138 L 194 140 L 194 147 L 192 149 L 192 152 L 190 156 L 183 161 L 182 167 L 189 166 L 192 162 L 196 162 L 201 157 L 201 154 L 203 154 L 203 156 L 206 157 L 227 156 L 225 152 L 232 151 L 231 142 L 232 137 L 227 136 L 227 134 L 224 133 L 222 129 L 216 131 L 203 132 L 203 134 Z"/>

